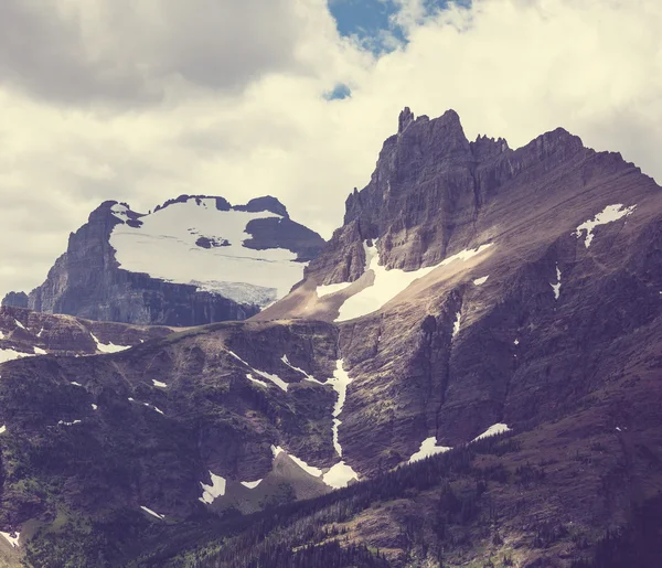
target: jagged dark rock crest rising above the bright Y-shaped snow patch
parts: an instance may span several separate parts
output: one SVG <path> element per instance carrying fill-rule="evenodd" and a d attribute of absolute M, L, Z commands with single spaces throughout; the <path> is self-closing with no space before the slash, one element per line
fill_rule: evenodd
<path fill-rule="evenodd" d="M 371 277 L 364 275 L 372 275 L 375 266 L 404 272 L 431 269 L 455 255 L 494 244 L 503 227 L 535 216 L 546 204 L 551 212 L 560 204 L 574 206 L 563 223 L 534 232 L 527 245 L 569 234 L 615 204 L 596 194 L 598 205 L 580 206 L 579 194 L 633 173 L 641 172 L 619 154 L 585 148 L 563 128 L 513 150 L 503 138 L 479 136 L 470 142 L 455 110 L 428 119 L 415 118 L 405 108 L 398 132 L 384 142 L 370 182 L 348 196 L 343 225 L 307 268 L 308 285 L 264 317 L 287 306 L 299 315 L 338 318 L 343 301 L 370 286 Z M 647 187 L 651 183 L 641 182 Z M 627 206 L 632 201 L 615 200 Z M 517 228 L 517 234 L 541 227 L 532 223 Z M 349 288 L 353 282 L 360 283 Z M 319 293 L 313 291 L 318 286 Z"/>

